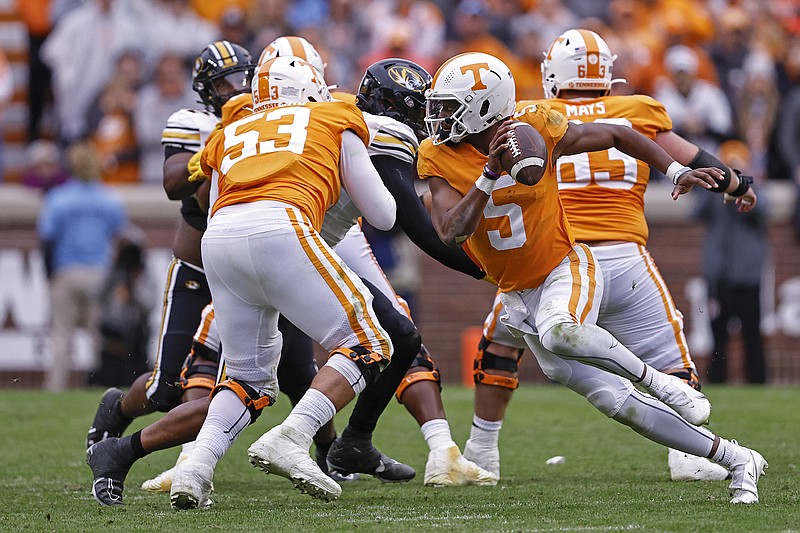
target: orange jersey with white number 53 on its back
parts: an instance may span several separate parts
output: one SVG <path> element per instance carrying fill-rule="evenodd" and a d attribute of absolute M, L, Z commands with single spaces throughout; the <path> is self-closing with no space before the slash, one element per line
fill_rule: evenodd
<path fill-rule="evenodd" d="M 325 211 L 339 199 L 342 134 L 352 130 L 369 143 L 361 111 L 345 102 L 312 102 L 251 113 L 206 142 L 201 164 L 215 172 L 211 210 L 277 200 L 301 209 L 319 230 Z"/>

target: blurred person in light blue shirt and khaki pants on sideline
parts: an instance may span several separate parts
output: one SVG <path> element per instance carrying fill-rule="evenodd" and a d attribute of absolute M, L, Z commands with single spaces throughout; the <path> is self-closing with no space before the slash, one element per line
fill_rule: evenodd
<path fill-rule="evenodd" d="M 86 327 L 97 347 L 98 292 L 127 222 L 122 202 L 99 180 L 91 146 L 74 144 L 68 160 L 71 179 L 47 193 L 37 224 L 50 280 L 52 358 L 45 386 L 53 391 L 69 385 L 75 328 Z"/>

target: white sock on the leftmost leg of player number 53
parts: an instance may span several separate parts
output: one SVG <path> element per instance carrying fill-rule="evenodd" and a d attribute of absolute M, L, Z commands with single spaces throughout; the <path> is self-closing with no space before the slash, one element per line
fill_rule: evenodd
<path fill-rule="evenodd" d="M 197 434 L 192 457 L 197 457 L 198 448 L 202 447 L 214 455 L 216 463 L 222 459 L 231 444 L 249 424 L 250 411 L 239 396 L 232 390 L 222 389 L 208 406 L 208 415 L 203 427 L 200 428 L 200 433 Z"/>

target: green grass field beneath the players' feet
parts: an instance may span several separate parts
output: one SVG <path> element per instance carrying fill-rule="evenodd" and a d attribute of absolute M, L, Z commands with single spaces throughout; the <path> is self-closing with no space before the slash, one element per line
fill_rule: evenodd
<path fill-rule="evenodd" d="M 503 478 L 497 487 L 424 487 L 427 447 L 413 419 L 393 403 L 375 442 L 414 466 L 417 478 L 402 485 L 367 478 L 346 484 L 335 503 L 313 500 L 247 462 L 247 446 L 287 413 L 281 398 L 220 462 L 213 509 L 176 512 L 166 495 L 138 490 L 173 464 L 175 451 L 137 463 L 125 505 L 107 508 L 92 499 L 83 449 L 102 391 L 5 389 L 0 530 L 800 531 L 800 388 L 709 386 L 706 392 L 714 404 L 711 429 L 758 449 L 770 463 L 757 505 L 730 505 L 727 482 L 669 481 L 665 449 L 606 419 L 574 393 L 545 385 L 516 393 L 500 438 Z M 444 399 L 463 447 L 472 393 L 451 385 Z M 345 416 L 337 417 L 338 427 Z M 554 455 L 566 462 L 546 466 Z"/>

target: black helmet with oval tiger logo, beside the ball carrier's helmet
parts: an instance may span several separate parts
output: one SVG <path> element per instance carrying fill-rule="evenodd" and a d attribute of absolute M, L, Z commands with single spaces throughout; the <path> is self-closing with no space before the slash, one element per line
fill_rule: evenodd
<path fill-rule="evenodd" d="M 422 140 L 425 131 L 425 91 L 431 75 L 406 59 L 383 59 L 367 68 L 356 95 L 362 111 L 407 124 Z"/>

